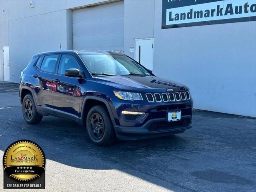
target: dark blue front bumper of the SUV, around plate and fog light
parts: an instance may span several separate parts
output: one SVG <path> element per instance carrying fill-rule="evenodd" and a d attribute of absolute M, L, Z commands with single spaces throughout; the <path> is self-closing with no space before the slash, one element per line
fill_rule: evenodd
<path fill-rule="evenodd" d="M 114 103 L 114 130 L 120 140 L 168 136 L 182 133 L 192 127 L 193 100 L 174 103 L 115 100 Z M 181 111 L 181 121 L 167 121 L 168 111 L 172 110 Z M 145 115 L 138 121 L 130 121 L 124 118 L 122 111 L 144 112 Z"/>

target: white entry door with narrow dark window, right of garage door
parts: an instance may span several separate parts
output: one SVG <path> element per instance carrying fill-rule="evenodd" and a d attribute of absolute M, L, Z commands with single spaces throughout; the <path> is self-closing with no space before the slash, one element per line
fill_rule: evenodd
<path fill-rule="evenodd" d="M 153 39 L 135 40 L 135 60 L 153 71 Z"/>

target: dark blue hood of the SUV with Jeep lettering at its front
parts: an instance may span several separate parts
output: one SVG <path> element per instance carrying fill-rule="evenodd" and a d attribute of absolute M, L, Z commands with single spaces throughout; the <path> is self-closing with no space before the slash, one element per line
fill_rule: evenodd
<path fill-rule="evenodd" d="M 121 90 L 134 90 L 137 92 L 188 90 L 188 88 L 183 84 L 156 76 L 104 76 L 98 77 L 97 81 L 115 86 Z"/>

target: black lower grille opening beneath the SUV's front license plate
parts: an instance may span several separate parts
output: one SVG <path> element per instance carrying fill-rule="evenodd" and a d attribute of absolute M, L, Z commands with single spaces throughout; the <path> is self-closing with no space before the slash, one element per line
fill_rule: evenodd
<path fill-rule="evenodd" d="M 191 123 L 190 118 L 185 118 L 180 121 L 167 122 L 167 121 L 159 121 L 153 122 L 149 127 L 149 131 L 159 131 L 159 130 L 171 130 L 175 129 L 179 126 L 188 126 Z"/>

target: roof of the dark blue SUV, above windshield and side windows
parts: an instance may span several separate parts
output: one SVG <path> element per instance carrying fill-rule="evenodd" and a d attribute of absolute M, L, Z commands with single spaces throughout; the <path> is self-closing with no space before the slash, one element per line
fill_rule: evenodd
<path fill-rule="evenodd" d="M 46 54 L 121 54 L 116 52 L 110 52 L 110 51 L 100 51 L 100 50 L 58 50 L 58 51 L 47 51 L 35 54 L 33 57 L 40 56 L 40 55 L 46 55 Z"/>

